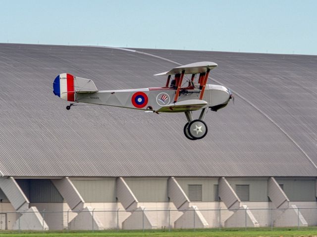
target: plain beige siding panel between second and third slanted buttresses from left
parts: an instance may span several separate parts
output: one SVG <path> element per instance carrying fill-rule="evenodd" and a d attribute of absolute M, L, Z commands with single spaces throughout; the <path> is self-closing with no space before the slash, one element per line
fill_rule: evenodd
<path fill-rule="evenodd" d="M 71 181 L 85 202 L 116 202 L 115 179 Z"/>

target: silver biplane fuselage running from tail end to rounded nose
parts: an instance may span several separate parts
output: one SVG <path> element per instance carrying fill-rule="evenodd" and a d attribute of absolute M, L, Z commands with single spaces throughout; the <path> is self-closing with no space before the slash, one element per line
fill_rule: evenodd
<path fill-rule="evenodd" d="M 230 91 L 218 85 L 206 85 L 202 102 L 199 99 L 199 89 L 180 90 L 178 100 L 174 103 L 175 89 L 169 88 L 142 88 L 133 90 L 112 90 L 98 91 L 95 93 L 78 93 L 75 96 L 76 102 L 117 106 L 123 108 L 142 109 L 153 112 L 185 112 L 203 108 L 217 108 L 225 106 L 230 99 Z M 132 96 L 142 92 L 148 97 L 148 102 L 143 103 L 143 98 L 139 98 L 140 106 L 136 107 Z M 163 98 L 162 98 L 163 97 Z M 137 103 L 137 98 L 135 99 Z M 183 105 L 183 106 L 177 106 Z M 142 106 L 142 107 L 141 107 Z"/>

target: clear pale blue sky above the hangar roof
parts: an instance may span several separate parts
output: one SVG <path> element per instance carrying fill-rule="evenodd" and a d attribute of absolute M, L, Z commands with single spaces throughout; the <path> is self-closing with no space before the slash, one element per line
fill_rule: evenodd
<path fill-rule="evenodd" d="M 0 43 L 317 54 L 317 0 L 0 0 Z"/>

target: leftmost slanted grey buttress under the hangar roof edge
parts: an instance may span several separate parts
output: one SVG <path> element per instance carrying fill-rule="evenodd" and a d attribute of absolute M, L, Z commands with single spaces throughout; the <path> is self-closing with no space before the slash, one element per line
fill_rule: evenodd
<path fill-rule="evenodd" d="M 29 203 L 29 200 L 12 177 L 0 178 L 0 189 L 7 196 L 15 210 L 18 210 L 23 204 Z"/>

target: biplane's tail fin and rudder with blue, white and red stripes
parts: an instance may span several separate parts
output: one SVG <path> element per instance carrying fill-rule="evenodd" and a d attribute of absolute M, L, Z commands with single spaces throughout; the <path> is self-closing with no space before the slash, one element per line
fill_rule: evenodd
<path fill-rule="evenodd" d="M 68 101 L 75 101 L 75 93 L 94 93 L 97 91 L 92 80 L 74 77 L 68 73 L 59 74 L 53 82 L 54 95 Z"/>

